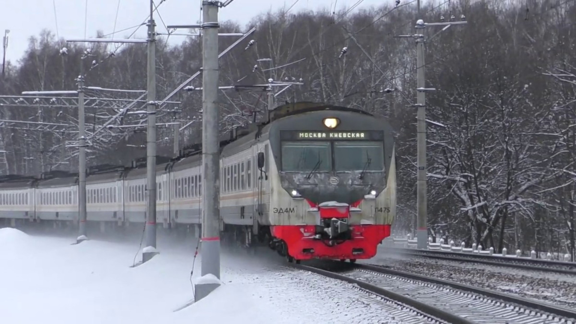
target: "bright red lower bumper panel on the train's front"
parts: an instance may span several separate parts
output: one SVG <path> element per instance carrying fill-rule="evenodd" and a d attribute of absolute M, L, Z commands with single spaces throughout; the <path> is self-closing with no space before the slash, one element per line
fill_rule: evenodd
<path fill-rule="evenodd" d="M 351 225 L 351 229 L 351 240 L 332 247 L 312 238 L 314 225 L 272 226 L 271 232 L 286 242 L 288 253 L 297 260 L 369 259 L 376 255 L 378 243 L 390 236 L 390 225 Z"/>

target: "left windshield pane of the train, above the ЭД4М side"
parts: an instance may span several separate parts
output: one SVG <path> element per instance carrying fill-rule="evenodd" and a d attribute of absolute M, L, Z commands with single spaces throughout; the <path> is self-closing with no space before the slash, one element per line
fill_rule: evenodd
<path fill-rule="evenodd" d="M 283 171 L 330 171 L 330 142 L 282 142 Z"/>

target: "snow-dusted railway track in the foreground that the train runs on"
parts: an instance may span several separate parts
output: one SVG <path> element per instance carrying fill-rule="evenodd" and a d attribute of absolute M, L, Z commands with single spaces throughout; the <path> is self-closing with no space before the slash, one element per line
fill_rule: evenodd
<path fill-rule="evenodd" d="M 418 310 L 420 316 L 448 323 L 576 324 L 576 310 L 378 266 L 329 262 L 295 267 L 357 284 Z"/>

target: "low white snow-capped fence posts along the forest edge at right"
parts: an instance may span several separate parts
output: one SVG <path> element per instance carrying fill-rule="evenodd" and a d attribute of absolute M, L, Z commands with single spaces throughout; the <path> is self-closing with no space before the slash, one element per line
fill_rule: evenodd
<path fill-rule="evenodd" d="M 460 246 L 456 246 L 453 240 L 450 240 L 449 244 L 445 244 L 444 239 L 440 239 L 439 243 L 432 243 L 433 239 L 428 238 L 428 250 L 432 251 L 445 251 L 454 253 L 466 253 L 466 254 L 482 254 L 482 255 L 492 255 L 494 257 L 509 257 L 509 258 L 519 258 L 519 259 L 536 259 L 536 251 L 530 251 L 529 257 L 522 257 L 522 251 L 516 250 L 515 254 L 508 254 L 507 248 L 502 248 L 502 254 L 494 253 L 494 247 L 490 247 L 484 250 L 482 244 L 476 246 L 476 243 L 472 244 L 472 247 L 465 247 L 465 243 L 460 243 Z M 412 239 L 412 235 L 406 235 L 406 238 L 401 237 L 389 237 L 384 240 L 384 244 L 390 247 L 404 247 L 404 248 L 416 248 L 418 240 Z M 547 252 L 545 254 L 545 259 L 552 260 L 552 256 L 556 257 L 559 261 L 570 262 L 570 254 L 558 254 Z M 544 259 L 544 258 L 543 258 Z"/>

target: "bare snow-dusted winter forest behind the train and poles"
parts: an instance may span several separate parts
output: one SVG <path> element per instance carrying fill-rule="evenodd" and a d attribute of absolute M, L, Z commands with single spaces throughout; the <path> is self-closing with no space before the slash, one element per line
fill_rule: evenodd
<path fill-rule="evenodd" d="M 550 251 L 576 259 L 574 0 L 433 0 L 420 13 L 414 1 L 398 7 L 389 1 L 338 12 L 268 12 L 247 26 L 221 22 L 222 33 L 256 30 L 219 60 L 219 82 L 301 80 L 304 85 L 276 96 L 276 105 L 316 101 L 389 119 L 398 172 L 394 231 L 414 232 L 416 44 L 397 36 L 416 33 L 417 18 L 468 21 L 424 31 L 426 87 L 436 89 L 426 94 L 430 235 L 495 251 Z M 157 28 L 164 28 L 162 22 Z M 220 37 L 219 50 L 236 39 Z M 158 37 L 158 100 L 200 70 L 201 47 L 200 37 L 175 46 Z M 344 47 L 346 54 L 340 55 Z M 0 95 L 75 90 L 81 64 L 86 86 L 146 89 L 145 45 L 67 43 L 43 31 L 29 38 L 18 62 L 6 63 Z M 201 76 L 187 85 L 201 87 Z M 143 129 L 103 127 L 138 95 L 86 90 L 86 97 L 106 102 L 86 108 L 88 165 L 129 165 L 146 155 Z M 179 91 L 170 100 L 181 103 L 161 106 L 158 122 L 188 125 L 179 133 L 180 148 L 199 142 L 202 92 Z M 0 119 L 34 122 L 2 122 L 2 174 L 77 170 L 77 108 L 26 102 L 29 106 L 0 105 Z M 111 125 L 144 123 L 141 106 L 134 104 Z M 219 107 L 226 136 L 254 117 L 260 120 L 267 96 L 222 90 Z M 173 137 L 171 125 L 158 127 L 158 155 L 173 156 Z"/>

